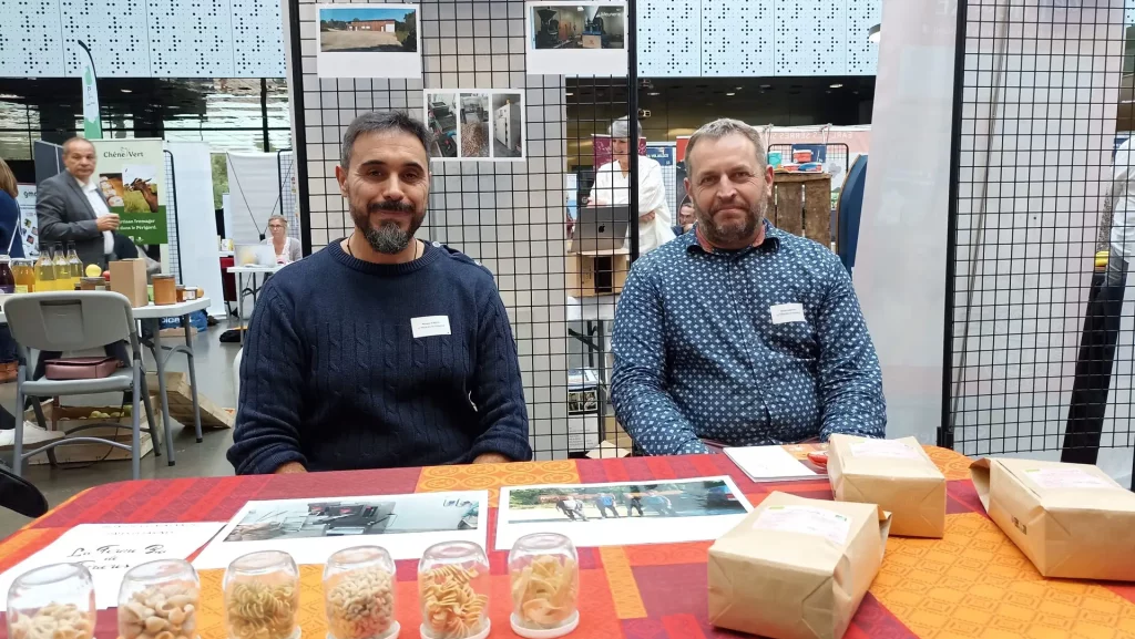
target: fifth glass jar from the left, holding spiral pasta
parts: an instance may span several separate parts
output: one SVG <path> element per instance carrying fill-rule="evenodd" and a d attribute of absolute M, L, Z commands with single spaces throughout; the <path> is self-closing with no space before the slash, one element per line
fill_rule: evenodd
<path fill-rule="evenodd" d="M 472 541 L 445 541 L 418 562 L 422 639 L 489 636 L 489 562 Z"/>

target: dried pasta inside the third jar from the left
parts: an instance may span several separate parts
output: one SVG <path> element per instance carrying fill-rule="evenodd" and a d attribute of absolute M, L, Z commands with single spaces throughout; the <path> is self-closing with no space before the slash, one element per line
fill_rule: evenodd
<path fill-rule="evenodd" d="M 300 590 L 293 583 L 232 586 L 226 615 L 233 639 L 288 639 L 296 629 Z"/>

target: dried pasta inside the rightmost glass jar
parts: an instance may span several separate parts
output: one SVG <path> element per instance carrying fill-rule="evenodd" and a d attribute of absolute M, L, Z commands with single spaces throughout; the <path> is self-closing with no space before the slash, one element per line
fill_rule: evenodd
<path fill-rule="evenodd" d="M 513 612 L 524 628 L 560 628 L 575 612 L 579 570 L 569 557 L 538 555 L 512 571 Z"/>

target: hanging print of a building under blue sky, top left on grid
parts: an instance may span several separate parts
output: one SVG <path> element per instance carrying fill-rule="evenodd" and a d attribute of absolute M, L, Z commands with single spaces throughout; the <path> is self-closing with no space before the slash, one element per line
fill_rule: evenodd
<path fill-rule="evenodd" d="M 421 77 L 417 5 L 320 5 L 319 77 Z"/>

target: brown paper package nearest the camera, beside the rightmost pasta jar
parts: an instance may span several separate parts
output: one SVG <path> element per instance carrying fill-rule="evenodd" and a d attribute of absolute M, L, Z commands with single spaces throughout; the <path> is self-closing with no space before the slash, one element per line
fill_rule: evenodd
<path fill-rule="evenodd" d="M 773 493 L 709 548 L 709 623 L 773 639 L 840 639 L 883 561 L 873 504 Z"/>

